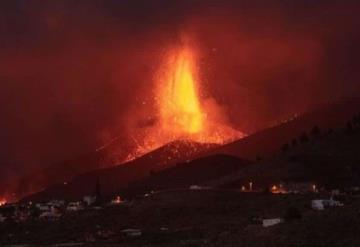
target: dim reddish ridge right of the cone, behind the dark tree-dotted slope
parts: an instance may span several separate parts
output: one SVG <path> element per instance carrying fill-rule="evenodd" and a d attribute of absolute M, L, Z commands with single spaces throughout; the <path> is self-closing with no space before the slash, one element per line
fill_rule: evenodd
<path fill-rule="evenodd" d="M 348 100 L 326 105 L 313 112 L 259 131 L 241 140 L 212 150 L 206 155 L 228 154 L 248 160 L 269 158 L 279 151 L 279 147 L 293 138 L 309 132 L 314 126 L 323 131 L 345 128 L 353 115 L 360 112 L 360 100 Z"/>

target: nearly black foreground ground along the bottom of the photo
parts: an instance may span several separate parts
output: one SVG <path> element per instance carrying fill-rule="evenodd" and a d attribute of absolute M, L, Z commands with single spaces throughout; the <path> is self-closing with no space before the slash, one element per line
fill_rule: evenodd
<path fill-rule="evenodd" d="M 54 222 L 3 223 L 0 245 L 360 246 L 360 198 L 348 196 L 343 207 L 311 209 L 312 199 L 328 197 L 317 193 L 163 191 L 128 204 L 67 213 Z M 277 217 L 285 222 L 267 228 L 254 220 Z M 141 229 L 142 235 L 131 238 L 121 234 L 128 228 Z"/>

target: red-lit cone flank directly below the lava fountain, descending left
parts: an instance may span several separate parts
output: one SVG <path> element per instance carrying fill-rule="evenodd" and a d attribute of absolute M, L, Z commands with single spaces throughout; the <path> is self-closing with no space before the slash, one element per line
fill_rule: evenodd
<path fill-rule="evenodd" d="M 48 198 L 79 198 L 93 194 L 99 179 L 105 195 L 111 195 L 131 182 L 143 179 L 151 173 L 185 162 L 196 155 L 214 148 L 213 144 L 200 144 L 188 141 L 169 143 L 133 161 L 105 169 L 90 171 L 74 177 L 66 183 L 58 183 L 45 190 L 30 195 L 25 200 L 44 200 Z"/>

